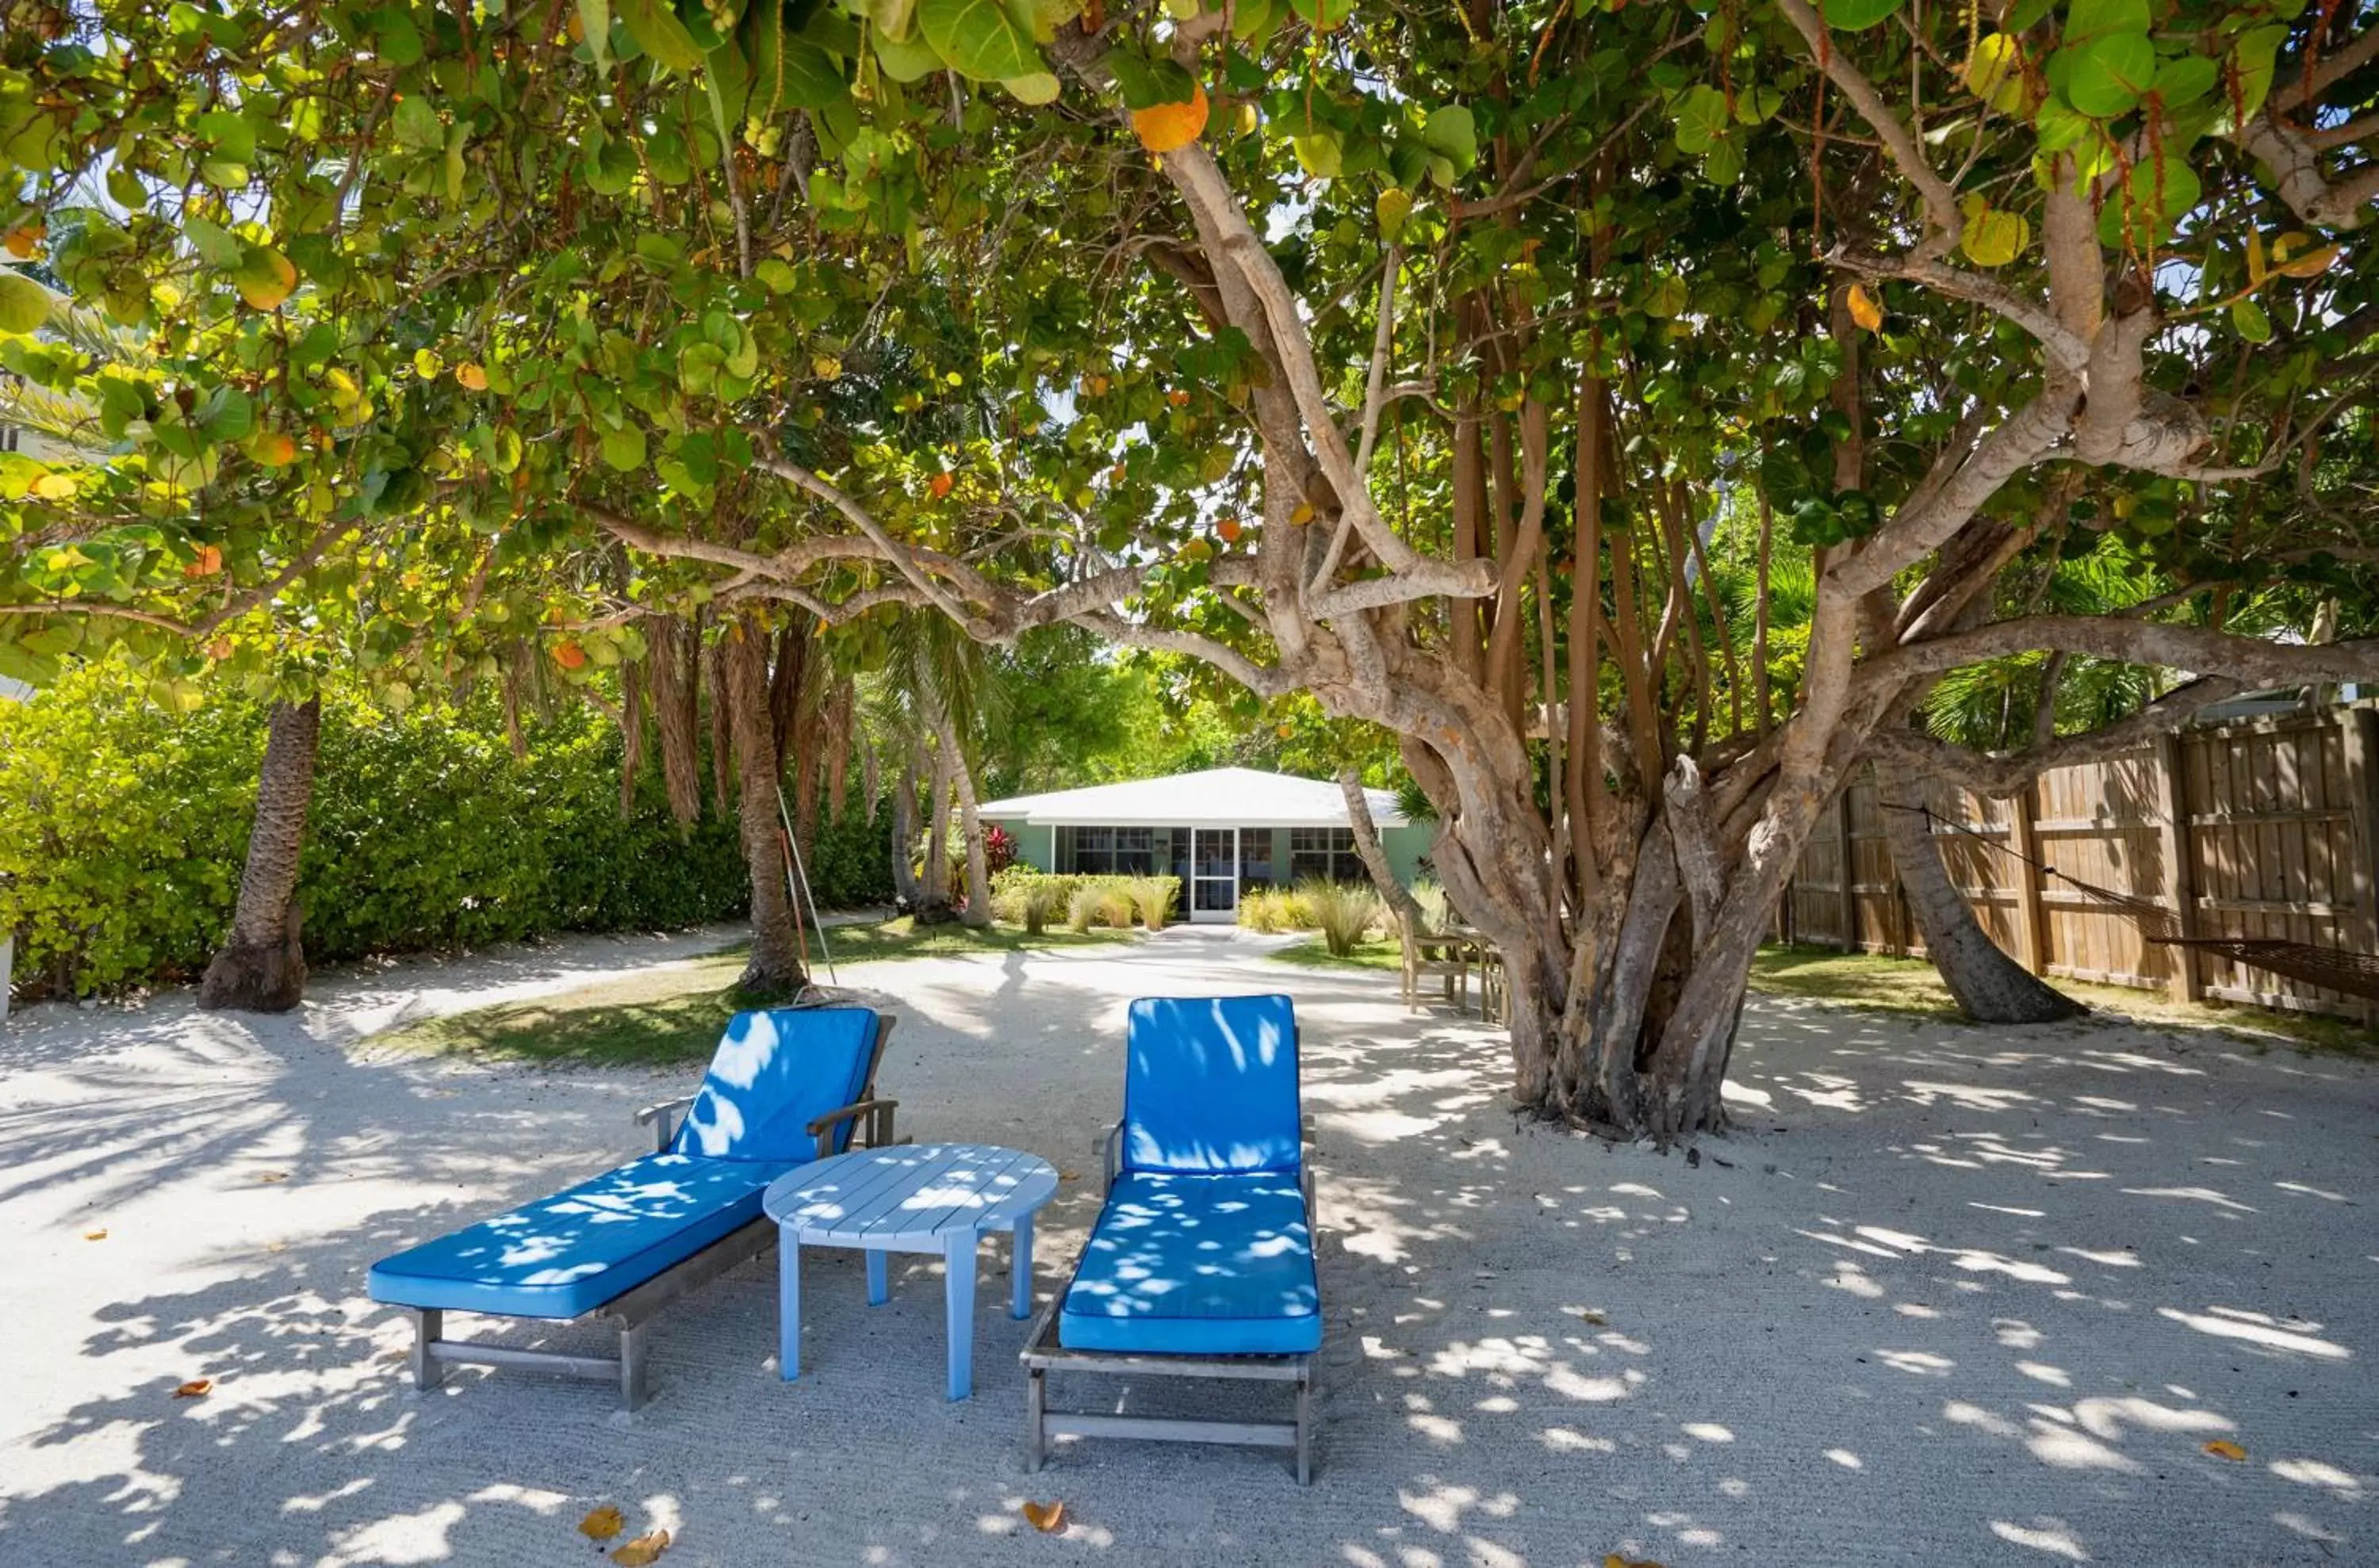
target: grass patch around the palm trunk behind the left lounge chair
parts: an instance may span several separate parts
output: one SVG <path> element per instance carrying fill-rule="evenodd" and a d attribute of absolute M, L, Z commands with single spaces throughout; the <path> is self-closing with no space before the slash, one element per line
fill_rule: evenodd
<path fill-rule="evenodd" d="M 906 916 L 880 926 L 828 930 L 835 964 L 883 959 L 940 959 L 968 952 L 1040 952 L 1049 947 L 1104 947 L 1130 940 L 1123 930 L 1078 935 L 1049 930 L 1025 935 L 1021 926 L 928 926 Z M 728 1018 L 749 1006 L 737 992 L 745 949 L 704 954 L 680 966 L 645 968 L 633 976 L 580 985 L 533 1002 L 478 1006 L 445 1018 L 423 1018 L 378 1035 L 374 1045 L 402 1052 L 509 1056 L 571 1066 L 699 1066 L 718 1049 Z"/>

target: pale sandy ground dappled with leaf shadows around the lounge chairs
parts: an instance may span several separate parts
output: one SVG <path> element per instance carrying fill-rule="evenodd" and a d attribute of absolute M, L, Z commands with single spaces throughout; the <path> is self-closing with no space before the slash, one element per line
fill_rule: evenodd
<path fill-rule="evenodd" d="M 1756 999 L 1744 1128 L 1691 1166 L 1515 1125 L 1494 1033 L 1408 1016 L 1392 976 L 1206 933 L 845 980 L 902 1014 L 904 1130 L 1073 1173 L 1116 1114 L 1128 997 L 1297 995 L 1327 1309 L 1308 1492 L 1268 1454 L 1118 1442 L 1025 1475 L 990 1254 L 963 1404 L 940 1263 L 897 1259 L 871 1311 L 852 1254 L 811 1254 L 797 1385 L 759 1261 L 661 1325 L 633 1418 L 519 1373 L 414 1394 L 366 1266 L 633 1154 L 630 1109 L 690 1078 L 369 1033 L 718 940 L 333 976 L 281 1021 L 12 1018 L 0 1563 L 588 1563 L 595 1504 L 673 1530 L 668 1568 L 2379 1563 L 2372 1068 Z M 1042 1299 L 1092 1190 L 1044 1216 Z M 176 1401 L 186 1378 L 214 1392 Z M 1035 1535 L 1023 1499 L 1071 1528 Z"/>

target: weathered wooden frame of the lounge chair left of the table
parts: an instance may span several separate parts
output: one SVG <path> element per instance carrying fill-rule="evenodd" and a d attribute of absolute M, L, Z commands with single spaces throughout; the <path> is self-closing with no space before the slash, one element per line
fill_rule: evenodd
<path fill-rule="evenodd" d="M 861 1078 L 859 1099 L 847 1106 L 837 1106 L 826 1116 L 818 1116 L 804 1125 L 804 1130 L 818 1140 L 818 1159 L 833 1159 L 835 1154 L 835 1128 L 852 1123 L 852 1144 L 880 1149 L 892 1137 L 892 1114 L 899 1109 L 897 1099 L 875 1097 L 875 1068 L 883 1066 L 885 1042 L 892 1040 L 892 1023 L 887 1014 L 875 1014 L 875 1049 L 868 1052 L 868 1071 Z M 668 1154 L 668 1142 L 676 1137 L 678 1118 L 695 1104 L 697 1095 L 678 1095 L 676 1099 L 664 1099 L 649 1104 L 635 1114 L 638 1125 L 652 1128 L 652 1152 Z M 861 1142 L 864 1130 L 864 1142 Z M 511 1344 L 476 1344 L 471 1340 L 447 1340 L 445 1313 L 452 1309 L 442 1306 L 412 1306 L 414 1313 L 414 1349 L 412 1349 L 412 1373 L 416 1390 L 433 1390 L 445 1382 L 445 1368 L 450 1366 L 511 1366 L 531 1373 L 547 1373 L 552 1378 L 585 1378 L 590 1382 L 619 1382 L 621 1409 L 633 1411 L 645 1404 L 649 1394 L 649 1378 L 645 1371 L 645 1335 L 652 1330 L 652 1318 L 661 1313 L 678 1297 L 692 1294 L 716 1280 L 718 1275 L 749 1263 L 752 1259 L 766 1254 L 776 1247 L 776 1221 L 761 1216 L 749 1225 L 730 1230 L 702 1252 L 673 1263 L 671 1268 L 652 1275 L 642 1285 L 630 1285 L 621 1294 L 611 1297 L 602 1306 L 580 1313 L 576 1318 L 559 1318 L 559 1323 L 607 1323 L 619 1332 L 619 1356 L 573 1356 L 569 1351 L 552 1349 L 519 1349 Z M 507 1313 L 473 1313 L 473 1316 L 507 1316 Z M 552 1321 L 552 1318 L 540 1318 Z"/>

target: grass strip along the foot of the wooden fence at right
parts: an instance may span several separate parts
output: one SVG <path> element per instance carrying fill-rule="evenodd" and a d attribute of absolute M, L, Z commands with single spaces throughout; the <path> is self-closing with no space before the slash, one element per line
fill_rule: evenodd
<path fill-rule="evenodd" d="M 2174 1002 L 2165 992 L 2129 985 L 2051 980 L 2060 992 L 2103 1014 L 2122 1014 L 2151 1028 L 2232 1035 L 2251 1045 L 2284 1040 L 2300 1049 L 2339 1056 L 2379 1056 L 2379 1037 L 2322 1014 L 2286 1014 L 2229 1002 Z M 1875 952 L 1832 947 L 1763 947 L 1751 961 L 1751 990 L 1770 997 L 1844 1002 L 1887 1014 L 1913 1014 L 1958 1023 L 1965 1014 L 1927 959 L 1891 959 Z"/>

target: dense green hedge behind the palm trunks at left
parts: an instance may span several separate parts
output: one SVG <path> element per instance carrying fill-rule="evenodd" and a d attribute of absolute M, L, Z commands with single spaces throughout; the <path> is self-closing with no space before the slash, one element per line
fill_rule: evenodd
<path fill-rule="evenodd" d="M 385 714 L 324 697 L 297 897 L 309 961 L 476 947 L 547 930 L 661 930 L 749 907 L 735 823 L 680 835 L 645 769 L 619 814 L 619 728 L 573 707 L 511 757 L 492 692 Z M 169 714 L 119 664 L 0 702 L 0 930 L 17 990 L 90 995 L 197 976 L 247 854 L 264 707 Z M 890 819 L 821 823 L 826 907 L 890 899 Z"/>

